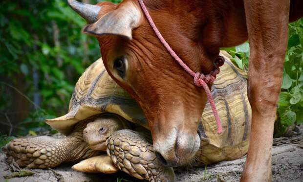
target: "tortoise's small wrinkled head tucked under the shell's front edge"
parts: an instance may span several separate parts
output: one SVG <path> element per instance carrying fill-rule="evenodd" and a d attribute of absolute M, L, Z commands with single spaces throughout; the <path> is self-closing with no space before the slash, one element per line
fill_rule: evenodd
<path fill-rule="evenodd" d="M 83 130 L 83 138 L 92 150 L 106 151 L 106 140 L 115 131 L 125 129 L 124 120 L 114 114 L 102 114 L 92 122 L 87 123 Z"/>

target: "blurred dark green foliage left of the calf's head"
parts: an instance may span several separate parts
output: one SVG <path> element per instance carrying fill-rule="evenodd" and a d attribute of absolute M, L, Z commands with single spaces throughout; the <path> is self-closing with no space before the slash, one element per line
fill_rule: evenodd
<path fill-rule="evenodd" d="M 15 107 L 17 90 L 32 101 L 24 105 L 27 118 L 12 121 L 14 131 L 49 130 L 45 118 L 66 114 L 76 81 L 101 56 L 96 39 L 81 32 L 85 25 L 66 0 L 1 1 L 0 118 L 23 112 Z"/>

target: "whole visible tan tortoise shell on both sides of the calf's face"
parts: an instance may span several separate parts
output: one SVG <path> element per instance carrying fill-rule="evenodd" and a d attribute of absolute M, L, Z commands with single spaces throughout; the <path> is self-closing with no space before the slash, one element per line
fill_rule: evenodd
<path fill-rule="evenodd" d="M 230 61 L 230 55 L 221 51 L 225 64 L 212 86 L 216 108 L 223 133 L 217 134 L 216 120 L 207 103 L 201 117 L 199 133 L 201 147 L 197 155 L 203 163 L 222 159 L 236 159 L 246 154 L 251 123 L 251 108 L 247 98 L 246 73 Z M 79 121 L 95 114 L 118 114 L 130 122 L 148 127 L 138 104 L 108 75 L 102 59 L 90 65 L 79 78 L 72 94 L 68 113 L 48 119 L 46 123 L 64 135 L 72 132 Z"/>

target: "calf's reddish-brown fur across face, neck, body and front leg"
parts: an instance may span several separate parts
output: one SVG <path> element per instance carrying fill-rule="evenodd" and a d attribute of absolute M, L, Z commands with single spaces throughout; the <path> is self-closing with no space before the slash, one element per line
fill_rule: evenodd
<path fill-rule="evenodd" d="M 136 0 L 124 0 L 117 6 L 102 2 L 98 4 L 103 7 L 99 18 L 127 1 L 133 1 L 140 9 Z M 287 23 L 303 16 L 303 1 L 145 0 L 145 3 L 163 37 L 194 71 L 209 73 L 220 47 L 239 45 L 249 38 L 248 91 L 253 121 L 242 180 L 270 181 Z M 97 38 L 108 73 L 143 108 L 154 146 L 165 145 L 170 139 L 168 135 L 175 132 L 173 145 L 160 153 L 167 161 L 189 160 L 207 99 L 205 92 L 195 87 L 193 78 L 164 49 L 143 14 L 140 24 L 132 30 L 132 40 L 112 35 Z M 114 55 L 127 57 L 124 79 L 112 67 Z"/>

